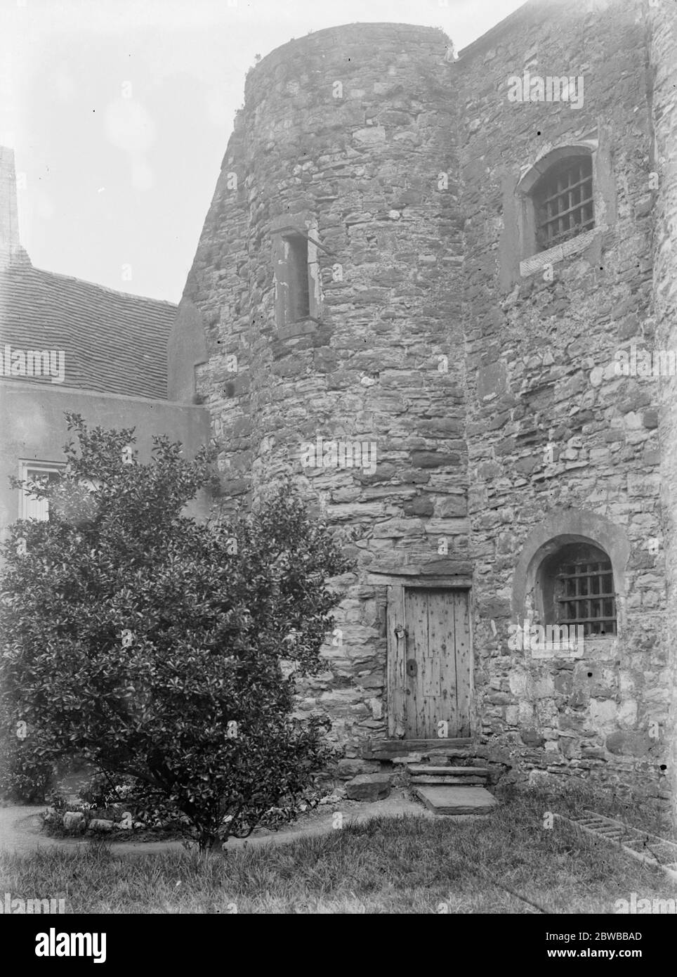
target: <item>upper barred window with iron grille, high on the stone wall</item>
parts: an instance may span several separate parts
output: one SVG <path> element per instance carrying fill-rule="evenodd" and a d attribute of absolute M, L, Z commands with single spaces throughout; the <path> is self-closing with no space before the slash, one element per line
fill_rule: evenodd
<path fill-rule="evenodd" d="M 592 156 L 568 156 L 553 164 L 538 181 L 534 203 L 539 251 L 592 230 Z"/>

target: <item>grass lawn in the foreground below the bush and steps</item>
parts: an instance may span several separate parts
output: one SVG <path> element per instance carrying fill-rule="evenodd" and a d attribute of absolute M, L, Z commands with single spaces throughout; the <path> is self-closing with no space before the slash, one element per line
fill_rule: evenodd
<path fill-rule="evenodd" d="M 614 913 L 631 892 L 677 898 L 662 872 L 617 847 L 558 819 L 543 828 L 545 811 L 575 813 L 585 800 L 506 794 L 481 820 L 376 818 L 206 858 L 129 858 L 109 845 L 5 855 L 0 891 L 62 898 L 66 913 Z M 595 810 L 621 813 L 606 806 Z M 633 811 L 626 820 L 656 830 Z"/>

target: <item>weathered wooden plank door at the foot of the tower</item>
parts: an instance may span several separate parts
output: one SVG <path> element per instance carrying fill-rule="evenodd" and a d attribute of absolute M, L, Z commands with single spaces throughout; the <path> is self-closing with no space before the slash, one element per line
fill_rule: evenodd
<path fill-rule="evenodd" d="M 405 588 L 403 644 L 405 739 L 469 736 L 468 592 Z"/>

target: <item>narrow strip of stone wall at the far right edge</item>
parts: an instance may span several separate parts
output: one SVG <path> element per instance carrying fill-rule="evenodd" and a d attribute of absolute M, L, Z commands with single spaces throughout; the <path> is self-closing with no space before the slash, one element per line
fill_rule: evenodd
<path fill-rule="evenodd" d="M 657 347 L 677 350 L 677 4 L 645 5 L 654 123 L 653 168 L 658 175 L 654 236 Z M 672 690 L 666 727 L 667 776 L 677 822 L 677 381 L 660 382 L 660 477 L 665 530 L 667 605 L 664 648 Z"/>

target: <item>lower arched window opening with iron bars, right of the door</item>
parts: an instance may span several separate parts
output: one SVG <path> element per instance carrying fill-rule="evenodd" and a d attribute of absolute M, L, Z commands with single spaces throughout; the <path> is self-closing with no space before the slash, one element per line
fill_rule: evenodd
<path fill-rule="evenodd" d="M 614 572 L 598 546 L 562 546 L 543 560 L 538 585 L 545 624 L 581 625 L 585 637 L 617 633 Z"/>

